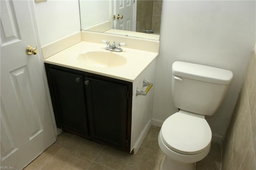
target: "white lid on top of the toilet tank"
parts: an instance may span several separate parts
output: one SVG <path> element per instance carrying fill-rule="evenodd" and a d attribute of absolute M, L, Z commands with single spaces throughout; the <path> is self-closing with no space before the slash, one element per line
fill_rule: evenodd
<path fill-rule="evenodd" d="M 223 85 L 230 84 L 233 78 L 230 70 L 182 61 L 175 61 L 172 64 L 172 73 L 180 77 Z"/>

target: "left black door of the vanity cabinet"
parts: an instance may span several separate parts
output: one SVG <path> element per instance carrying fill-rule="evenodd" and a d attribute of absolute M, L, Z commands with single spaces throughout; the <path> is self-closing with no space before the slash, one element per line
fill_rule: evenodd
<path fill-rule="evenodd" d="M 83 76 L 48 69 L 57 126 L 88 137 Z"/>

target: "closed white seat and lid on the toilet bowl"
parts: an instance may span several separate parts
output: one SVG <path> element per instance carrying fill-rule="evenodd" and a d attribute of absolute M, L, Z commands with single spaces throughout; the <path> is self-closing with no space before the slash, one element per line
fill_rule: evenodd
<path fill-rule="evenodd" d="M 182 111 L 168 117 L 160 132 L 164 144 L 182 154 L 203 152 L 212 140 L 210 126 L 204 117 Z"/>

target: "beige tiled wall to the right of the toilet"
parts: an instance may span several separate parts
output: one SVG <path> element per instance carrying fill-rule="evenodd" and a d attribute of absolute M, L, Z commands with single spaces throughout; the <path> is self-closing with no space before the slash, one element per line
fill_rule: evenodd
<path fill-rule="evenodd" d="M 256 56 L 253 51 L 223 146 L 222 170 L 256 169 Z"/>

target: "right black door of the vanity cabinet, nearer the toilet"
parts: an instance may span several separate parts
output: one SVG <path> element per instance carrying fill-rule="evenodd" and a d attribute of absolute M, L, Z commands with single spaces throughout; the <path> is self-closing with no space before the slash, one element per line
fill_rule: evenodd
<path fill-rule="evenodd" d="M 91 138 L 128 150 L 127 86 L 85 78 Z"/>

